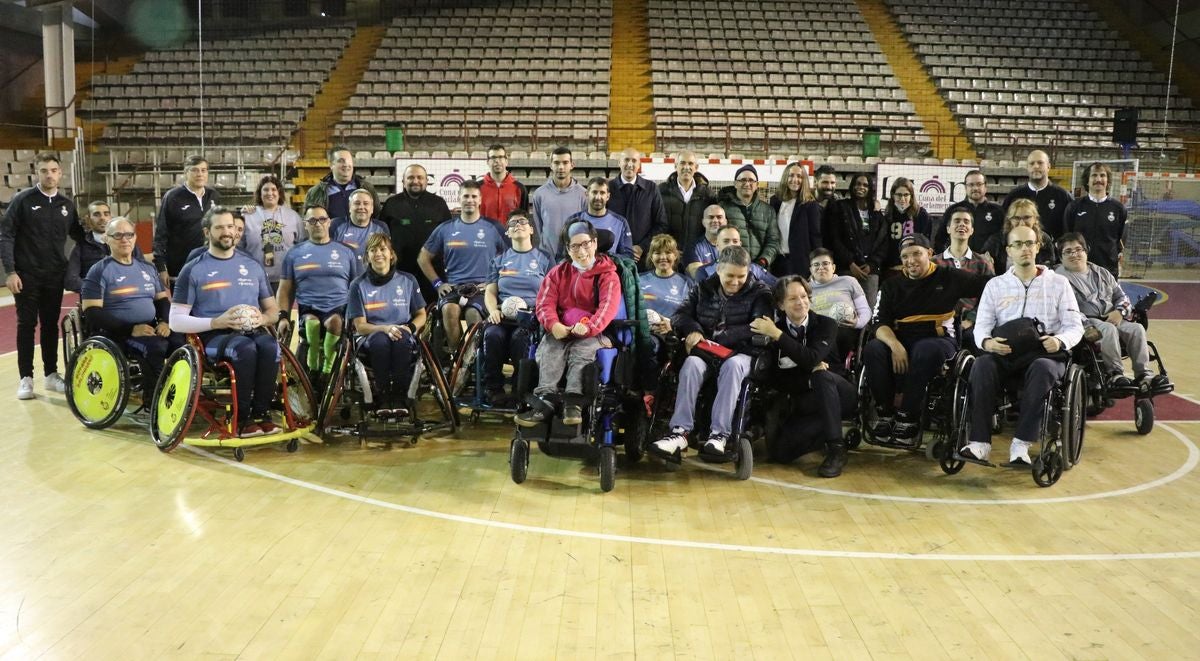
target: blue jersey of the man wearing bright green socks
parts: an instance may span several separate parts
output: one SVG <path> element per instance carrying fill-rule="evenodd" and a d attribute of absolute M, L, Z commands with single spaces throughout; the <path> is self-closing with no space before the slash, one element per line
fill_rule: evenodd
<path fill-rule="evenodd" d="M 362 272 L 354 250 L 338 241 L 296 244 L 283 258 L 283 280 L 294 284 L 296 302 L 332 312 L 346 306 L 350 282 Z"/>

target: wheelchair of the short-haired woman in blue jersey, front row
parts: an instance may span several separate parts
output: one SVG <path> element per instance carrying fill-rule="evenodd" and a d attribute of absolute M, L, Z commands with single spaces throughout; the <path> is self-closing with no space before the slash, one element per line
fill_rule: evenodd
<path fill-rule="evenodd" d="M 449 385 L 425 337 L 419 333 L 416 338 L 413 379 L 407 395 L 413 410 L 403 417 L 379 417 L 376 414 L 378 397 L 372 385 L 366 351 L 348 335 L 343 335 L 337 345 L 334 368 L 317 408 L 319 435 L 350 435 L 361 443 L 379 439 L 388 445 L 392 443 L 390 439 L 403 438 L 407 439 L 403 443 L 414 446 L 428 432 L 442 429 L 452 434 L 458 429 L 458 411 L 454 408 Z M 432 397 L 432 404 L 426 395 Z M 372 423 L 376 425 L 374 428 Z"/>

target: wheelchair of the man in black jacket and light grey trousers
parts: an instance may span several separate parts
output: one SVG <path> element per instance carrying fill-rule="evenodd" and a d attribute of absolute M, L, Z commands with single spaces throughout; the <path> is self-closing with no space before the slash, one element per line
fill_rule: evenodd
<path fill-rule="evenodd" d="M 756 345 L 758 344 L 756 343 Z M 649 423 L 646 426 L 646 444 L 654 443 L 670 431 L 679 386 L 679 368 L 686 357 L 682 350 L 677 350 L 674 357 L 662 367 L 659 374 L 659 389 L 654 393 L 654 405 L 650 410 Z M 770 373 L 770 351 L 760 351 L 751 356 L 750 372 L 742 380 L 737 404 L 733 407 L 733 417 L 730 421 L 730 443 L 725 446 L 725 455 L 718 457 L 697 452 L 704 463 L 732 463 L 733 477 L 737 480 L 750 479 L 754 473 L 752 445 L 756 440 L 768 435 L 767 419 L 758 415 L 758 411 L 766 411 L 769 408 L 767 378 Z M 704 441 L 706 434 L 700 433 L 700 431 L 710 427 L 719 371 L 719 366 L 709 366 L 704 373 L 704 384 L 696 395 L 695 428 L 688 438 L 688 445 L 692 450 L 702 447 Z M 664 463 L 668 470 L 678 465 L 672 461 Z"/>

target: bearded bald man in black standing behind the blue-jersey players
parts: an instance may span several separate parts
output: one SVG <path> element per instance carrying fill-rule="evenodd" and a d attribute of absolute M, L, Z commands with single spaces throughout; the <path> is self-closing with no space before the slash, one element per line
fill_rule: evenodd
<path fill-rule="evenodd" d="M 430 175 L 422 166 L 408 166 L 403 173 L 404 190 L 388 198 L 379 220 L 391 230 L 396 246 L 396 270 L 416 276 L 421 298 L 432 301 L 433 286 L 416 264 L 421 246 L 433 228 L 450 220 L 450 206 L 440 197 L 426 191 Z"/>

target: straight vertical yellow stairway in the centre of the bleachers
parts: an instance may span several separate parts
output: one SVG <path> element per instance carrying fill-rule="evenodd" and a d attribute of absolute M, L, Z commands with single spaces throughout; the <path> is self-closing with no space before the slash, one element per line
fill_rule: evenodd
<path fill-rule="evenodd" d="M 612 74 L 608 86 L 610 151 L 626 148 L 642 154 L 654 151 L 646 0 L 612 4 Z"/>

